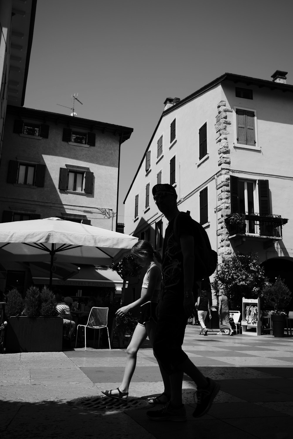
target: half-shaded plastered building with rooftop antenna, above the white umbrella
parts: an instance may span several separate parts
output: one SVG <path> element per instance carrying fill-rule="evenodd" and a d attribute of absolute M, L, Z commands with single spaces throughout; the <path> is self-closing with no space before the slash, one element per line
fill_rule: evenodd
<path fill-rule="evenodd" d="M 116 230 L 120 146 L 132 131 L 8 105 L 2 222 L 57 216 Z"/>

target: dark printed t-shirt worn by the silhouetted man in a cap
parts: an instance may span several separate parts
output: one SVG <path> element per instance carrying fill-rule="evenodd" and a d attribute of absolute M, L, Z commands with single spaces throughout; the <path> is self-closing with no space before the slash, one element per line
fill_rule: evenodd
<path fill-rule="evenodd" d="M 178 215 L 176 219 L 176 237 L 177 240 L 182 235 L 194 235 L 192 218 L 189 215 Z M 183 293 L 184 291 L 184 273 L 183 273 L 183 255 L 181 245 L 174 236 L 174 219 L 170 221 L 166 228 L 163 244 L 163 291 L 173 291 Z M 183 297 L 183 296 L 182 296 Z"/>

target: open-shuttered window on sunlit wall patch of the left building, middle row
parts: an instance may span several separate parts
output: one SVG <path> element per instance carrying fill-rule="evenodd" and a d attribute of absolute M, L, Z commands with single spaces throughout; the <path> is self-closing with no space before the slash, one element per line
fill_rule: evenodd
<path fill-rule="evenodd" d="M 94 191 L 94 173 L 83 171 L 83 169 L 73 169 L 69 165 L 68 168 L 60 168 L 59 189 L 92 194 Z"/>

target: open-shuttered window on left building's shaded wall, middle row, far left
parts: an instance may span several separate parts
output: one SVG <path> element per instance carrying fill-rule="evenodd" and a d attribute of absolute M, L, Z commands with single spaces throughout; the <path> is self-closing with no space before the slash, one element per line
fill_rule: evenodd
<path fill-rule="evenodd" d="M 25 186 L 43 187 L 45 182 L 46 165 L 22 163 L 10 160 L 8 165 L 7 183 L 23 184 Z"/>

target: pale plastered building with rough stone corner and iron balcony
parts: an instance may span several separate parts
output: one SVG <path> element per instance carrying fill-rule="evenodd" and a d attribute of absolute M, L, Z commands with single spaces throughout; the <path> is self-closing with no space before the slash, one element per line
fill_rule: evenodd
<path fill-rule="evenodd" d="M 152 187 L 170 183 L 178 209 L 203 225 L 220 263 L 232 252 L 257 251 L 292 290 L 293 86 L 286 73 L 276 71 L 272 81 L 226 73 L 183 100 L 167 98 L 124 200 L 125 233 L 162 249 L 167 221 Z M 235 213 L 239 225 L 229 219 Z"/>

